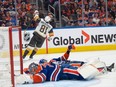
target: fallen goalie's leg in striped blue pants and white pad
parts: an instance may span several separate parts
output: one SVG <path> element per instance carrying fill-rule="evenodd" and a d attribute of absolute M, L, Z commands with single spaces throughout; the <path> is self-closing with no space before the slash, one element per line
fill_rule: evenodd
<path fill-rule="evenodd" d="M 100 71 L 97 67 L 103 66 L 100 61 L 93 61 L 85 63 L 79 68 L 67 67 L 63 69 L 63 73 L 66 74 L 67 78 L 75 80 L 90 80 L 95 78 Z"/>

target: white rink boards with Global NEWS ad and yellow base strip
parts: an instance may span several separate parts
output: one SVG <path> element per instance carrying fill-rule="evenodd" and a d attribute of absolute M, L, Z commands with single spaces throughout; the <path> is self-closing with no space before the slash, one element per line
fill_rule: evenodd
<path fill-rule="evenodd" d="M 27 47 L 34 30 L 22 31 L 22 49 Z M 60 28 L 53 29 L 54 36 L 51 41 L 45 41 L 37 54 L 65 52 L 69 44 L 75 44 L 75 52 L 116 50 L 116 27 L 86 27 L 86 28 Z M 18 36 L 13 31 L 14 55 L 19 51 Z M 2 36 L 1 38 L 4 38 Z M 2 39 L 3 40 L 3 39 Z M 2 41 L 1 41 L 2 42 Z M 7 47 L 4 40 L 2 49 Z M 2 45 L 2 44 L 1 44 Z M 3 52 L 5 53 L 5 52 Z M 6 53 L 5 53 L 6 54 Z"/>

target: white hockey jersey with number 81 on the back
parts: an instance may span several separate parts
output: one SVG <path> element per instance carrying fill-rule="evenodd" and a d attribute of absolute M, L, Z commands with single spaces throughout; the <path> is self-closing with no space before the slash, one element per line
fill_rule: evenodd
<path fill-rule="evenodd" d="M 53 27 L 44 21 L 44 19 L 41 19 L 38 23 L 38 26 L 36 27 L 35 31 L 42 37 L 46 37 L 47 33 L 52 29 Z"/>

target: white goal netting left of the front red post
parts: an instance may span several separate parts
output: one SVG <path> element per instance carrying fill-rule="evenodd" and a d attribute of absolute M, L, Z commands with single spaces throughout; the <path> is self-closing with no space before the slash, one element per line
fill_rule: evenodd
<path fill-rule="evenodd" d="M 9 57 L 9 33 L 8 27 L 0 27 L 0 87 L 9 85 L 11 86 L 10 70 L 8 70 L 8 65 L 10 59 Z M 7 82 L 7 85 L 5 83 Z"/>

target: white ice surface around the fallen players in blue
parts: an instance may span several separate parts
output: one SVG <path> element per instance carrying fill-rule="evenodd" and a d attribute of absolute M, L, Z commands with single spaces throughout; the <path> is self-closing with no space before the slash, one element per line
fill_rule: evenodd
<path fill-rule="evenodd" d="M 36 55 L 30 61 L 24 60 L 24 67 L 28 67 L 31 62 L 36 62 L 42 58 L 50 60 L 62 56 L 64 53 Z M 69 60 L 87 61 L 99 58 L 106 65 L 116 63 L 116 50 L 112 51 L 89 51 L 89 52 L 71 52 Z M 4 61 L 4 60 L 1 60 Z M 18 67 L 16 66 L 15 69 Z M 1 86 L 0 86 L 1 87 Z M 4 86 L 6 87 L 6 86 Z M 16 87 L 116 87 L 116 72 L 109 72 L 90 81 L 62 80 L 57 82 L 44 82 L 39 84 L 16 85 Z"/>

